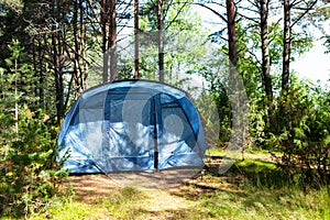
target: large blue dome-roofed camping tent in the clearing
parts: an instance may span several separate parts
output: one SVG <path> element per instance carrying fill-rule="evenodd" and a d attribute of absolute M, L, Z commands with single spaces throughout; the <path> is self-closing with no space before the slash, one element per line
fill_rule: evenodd
<path fill-rule="evenodd" d="M 182 90 L 124 80 L 86 90 L 65 117 L 57 143 L 70 173 L 204 166 L 198 111 Z"/>

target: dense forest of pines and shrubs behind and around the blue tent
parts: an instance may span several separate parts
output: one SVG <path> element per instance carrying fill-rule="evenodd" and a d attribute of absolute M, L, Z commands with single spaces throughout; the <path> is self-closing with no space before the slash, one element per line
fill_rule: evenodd
<path fill-rule="evenodd" d="M 198 9 L 220 22 L 209 29 Z M 226 148 L 235 108 L 229 88 L 239 77 L 249 112 L 243 148 L 272 152 L 292 183 L 329 183 L 329 87 L 290 68 L 315 40 L 330 52 L 329 14 L 320 0 L 1 0 L 0 212 L 54 196 L 66 111 L 84 90 L 118 79 L 187 90 L 209 146 Z"/>

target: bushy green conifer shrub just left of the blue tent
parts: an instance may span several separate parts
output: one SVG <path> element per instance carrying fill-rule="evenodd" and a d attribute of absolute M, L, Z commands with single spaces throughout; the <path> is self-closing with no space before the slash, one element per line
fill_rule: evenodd
<path fill-rule="evenodd" d="M 1 127 L 13 133 L 13 120 L 1 113 Z M 42 211 L 58 191 L 66 174 L 56 163 L 57 128 L 47 125 L 42 111 L 32 113 L 25 106 L 20 112 L 19 133 L 0 134 L 0 215 L 28 216 Z M 7 132 L 8 133 L 8 132 Z"/>

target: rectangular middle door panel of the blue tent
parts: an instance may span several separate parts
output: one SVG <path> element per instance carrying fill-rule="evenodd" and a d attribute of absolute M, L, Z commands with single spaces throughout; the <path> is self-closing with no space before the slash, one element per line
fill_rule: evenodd
<path fill-rule="evenodd" d="M 147 92 L 111 92 L 106 100 L 107 136 L 103 166 L 107 172 L 147 170 L 154 166 L 154 101 Z"/>

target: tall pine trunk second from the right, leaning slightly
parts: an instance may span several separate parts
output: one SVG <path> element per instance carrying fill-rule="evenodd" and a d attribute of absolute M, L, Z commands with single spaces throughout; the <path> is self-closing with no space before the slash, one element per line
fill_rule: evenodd
<path fill-rule="evenodd" d="M 267 99 L 273 103 L 273 88 L 271 78 L 271 58 L 270 58 L 270 40 L 268 40 L 268 0 L 261 0 L 260 8 L 260 29 L 262 40 L 262 78 Z"/>

